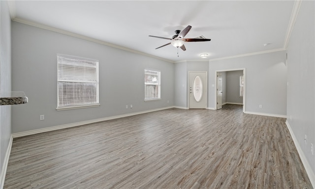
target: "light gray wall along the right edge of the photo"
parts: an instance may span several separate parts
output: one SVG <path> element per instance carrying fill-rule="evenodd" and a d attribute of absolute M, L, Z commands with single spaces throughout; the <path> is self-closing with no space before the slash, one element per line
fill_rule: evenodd
<path fill-rule="evenodd" d="M 315 1 L 302 1 L 287 47 L 287 122 L 315 173 Z M 307 144 L 304 135 L 307 134 Z M 311 178 L 312 179 L 312 178 Z M 313 178 L 314 180 L 314 178 Z"/>

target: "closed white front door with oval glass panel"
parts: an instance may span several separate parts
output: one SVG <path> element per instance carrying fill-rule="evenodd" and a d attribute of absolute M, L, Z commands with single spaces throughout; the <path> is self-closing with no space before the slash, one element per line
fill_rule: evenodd
<path fill-rule="evenodd" d="M 207 72 L 189 72 L 189 108 L 207 108 Z"/>

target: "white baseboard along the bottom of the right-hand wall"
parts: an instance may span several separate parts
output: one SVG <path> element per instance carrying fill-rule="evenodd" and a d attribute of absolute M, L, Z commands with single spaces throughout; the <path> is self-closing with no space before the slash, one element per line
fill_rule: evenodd
<path fill-rule="evenodd" d="M 300 158 L 301 158 L 301 161 L 302 161 L 302 163 L 303 163 L 303 165 L 304 165 L 304 168 L 305 168 L 305 170 L 306 170 L 306 173 L 307 173 L 307 175 L 309 176 L 309 179 L 310 179 L 310 181 L 311 181 L 311 183 L 312 183 L 312 186 L 313 186 L 313 188 L 315 188 L 315 174 L 314 174 L 314 172 L 313 172 L 313 170 L 312 170 L 312 168 L 311 168 L 311 165 L 309 164 L 307 158 L 305 157 L 305 155 L 304 155 L 304 153 L 303 153 L 303 151 L 302 151 L 302 149 L 301 149 L 301 147 L 300 147 L 300 145 L 299 145 L 299 142 L 298 142 L 298 140 L 296 139 L 296 137 L 295 137 L 295 135 L 294 135 L 294 133 L 293 133 L 293 131 L 292 131 L 292 129 L 291 129 L 290 124 L 289 124 L 287 121 L 285 122 L 285 124 L 286 124 L 287 128 L 288 128 L 289 131 L 290 131 L 291 138 L 292 138 L 292 140 L 293 140 L 293 142 L 294 142 L 294 145 L 295 145 L 295 147 L 296 147 L 296 150 L 297 150 L 297 152 L 298 152 L 298 154 L 299 154 L 299 156 L 300 156 Z"/>

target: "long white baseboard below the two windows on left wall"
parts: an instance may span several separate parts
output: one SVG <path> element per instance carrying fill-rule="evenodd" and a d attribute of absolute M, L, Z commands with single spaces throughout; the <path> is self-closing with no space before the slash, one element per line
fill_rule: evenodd
<path fill-rule="evenodd" d="M 134 113 L 130 113 L 130 114 L 123 114 L 123 115 L 118 115 L 118 116 L 111 116 L 111 117 L 100 118 L 100 119 L 95 119 L 95 120 L 88 120 L 88 121 L 77 122 L 77 123 L 72 123 L 72 124 L 65 124 L 65 125 L 61 125 L 61 126 L 51 126 L 51 127 L 47 127 L 47 128 L 40 128 L 40 129 L 35 129 L 35 130 L 30 130 L 30 131 L 17 132 L 17 133 L 13 133 L 12 136 L 13 136 L 13 138 L 28 136 L 28 135 L 32 135 L 32 134 L 38 134 L 38 133 L 48 132 L 48 131 L 53 131 L 53 130 L 59 130 L 59 129 L 63 129 L 63 128 L 73 127 L 73 126 L 83 126 L 83 125 L 87 125 L 87 124 L 93 124 L 96 122 L 113 120 L 113 119 L 117 119 L 117 118 L 124 118 L 124 117 L 134 116 L 134 115 L 138 115 L 138 114 L 145 114 L 145 113 L 149 113 L 149 112 L 155 112 L 155 111 L 170 109 L 170 108 L 174 108 L 174 107 L 175 106 L 168 106 L 168 107 L 146 110 L 146 111 L 141 111 L 141 112 L 134 112 Z"/>

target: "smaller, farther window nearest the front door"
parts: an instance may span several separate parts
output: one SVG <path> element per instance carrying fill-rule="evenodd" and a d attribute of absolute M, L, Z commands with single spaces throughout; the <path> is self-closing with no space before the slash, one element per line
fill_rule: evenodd
<path fill-rule="evenodd" d="M 144 100 L 160 99 L 160 72 L 144 70 Z"/>

